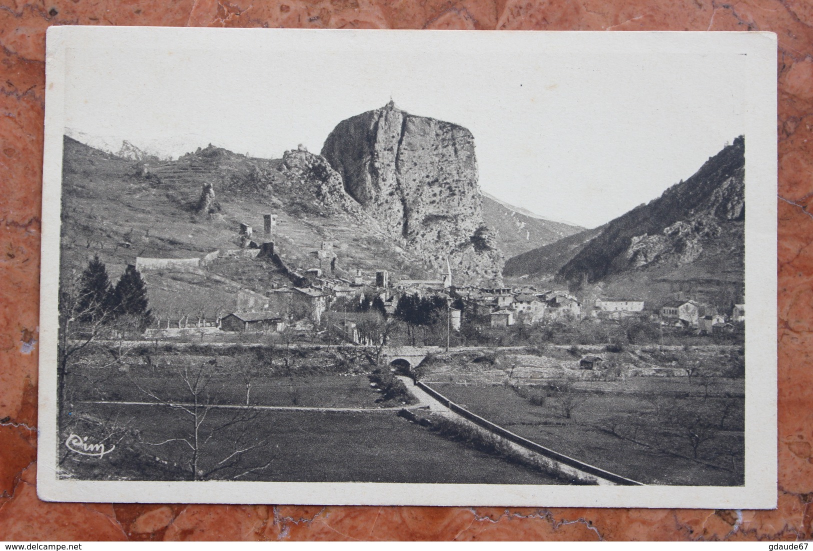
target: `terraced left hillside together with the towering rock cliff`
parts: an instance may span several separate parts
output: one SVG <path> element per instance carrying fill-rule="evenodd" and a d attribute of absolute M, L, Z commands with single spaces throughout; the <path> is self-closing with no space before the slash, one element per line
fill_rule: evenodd
<path fill-rule="evenodd" d="M 448 258 L 455 283 L 499 282 L 502 253 L 482 219 L 465 128 L 389 105 L 342 121 L 324 150 L 331 162 L 302 147 L 263 159 L 211 144 L 162 160 L 128 142 L 116 155 L 65 136 L 62 273 L 79 273 L 96 254 L 115 279 L 137 257 L 241 249 L 246 225 L 254 241 L 275 242 L 285 267 L 228 253 L 209 259 L 200 274 L 150 271 L 150 289 L 165 291 L 151 297 L 154 307 L 234 307 L 236 289 L 264 293 L 302 280 L 290 271 L 315 267 L 346 280 L 380 269 L 393 281 L 435 280 Z M 359 167 L 370 177 L 354 171 Z M 266 213 L 277 215 L 273 236 L 263 235 Z M 317 250 L 324 241 L 333 243 L 325 258 L 335 254 L 335 264 Z"/>

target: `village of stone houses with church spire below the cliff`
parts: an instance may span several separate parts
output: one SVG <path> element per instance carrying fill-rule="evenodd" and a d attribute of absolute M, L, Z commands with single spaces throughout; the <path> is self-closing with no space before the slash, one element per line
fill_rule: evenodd
<path fill-rule="evenodd" d="M 637 297 L 597 297 L 585 304 L 565 289 L 456 284 L 448 261 L 434 280 L 395 279 L 384 269 L 356 268 L 347 276 L 347 270 L 338 269 L 341 258 L 333 241 L 314 244 L 311 265 L 289 267 L 285 252 L 276 248 L 275 236 L 280 233 L 277 221 L 277 215 L 263 215 L 262 233 L 241 223 L 239 249 L 216 250 L 201 258 L 136 258 L 135 269 L 148 276 L 207 269 L 215 259 L 228 262 L 230 258 L 265 260 L 285 276 L 282 284 L 273 280 L 266 288 L 240 289 L 236 307 L 231 309 L 204 312 L 189 306 L 170 311 L 161 303 L 152 303 L 154 323 L 144 336 L 195 336 L 204 341 L 238 334 L 250 339 L 251 335 L 285 333 L 294 340 L 299 336 L 300 341 L 311 342 L 422 344 L 414 336 L 399 339 L 398 328 L 390 327 L 387 320 L 442 328 L 429 332 L 434 338 L 424 338 L 423 344 L 443 345 L 445 341 L 446 346 L 450 342 L 493 344 L 493 339 L 479 337 L 520 327 L 567 330 L 577 325 L 617 326 L 625 320 L 643 324 L 652 335 L 657 333 L 662 344 L 664 335 L 732 336 L 744 332 L 744 304 L 723 309 L 688 297 L 663 304 L 647 304 Z M 425 311 L 420 315 L 417 310 Z M 465 337 L 461 338 L 461 332 Z"/>

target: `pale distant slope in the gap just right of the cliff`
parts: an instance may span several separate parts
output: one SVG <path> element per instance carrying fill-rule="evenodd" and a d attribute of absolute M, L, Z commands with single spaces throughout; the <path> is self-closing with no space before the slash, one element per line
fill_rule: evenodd
<path fill-rule="evenodd" d="M 493 229 L 494 241 L 506 258 L 584 230 L 580 226 L 543 219 L 488 193 L 483 193 L 483 222 Z M 507 275 L 506 270 L 507 261 L 503 270 Z"/>

